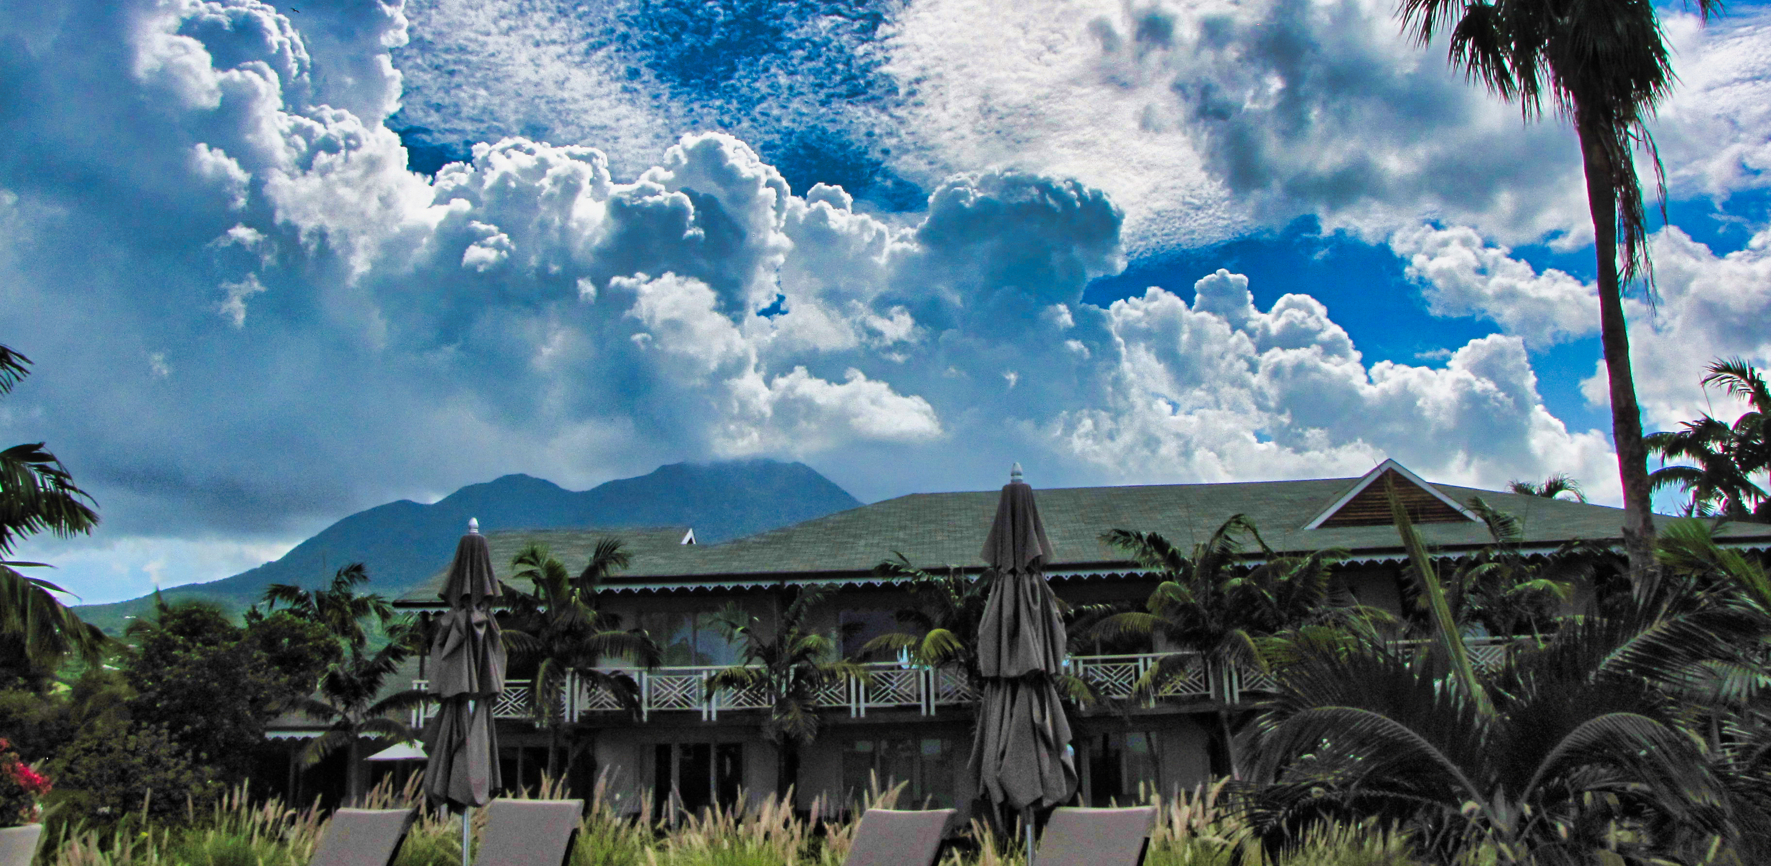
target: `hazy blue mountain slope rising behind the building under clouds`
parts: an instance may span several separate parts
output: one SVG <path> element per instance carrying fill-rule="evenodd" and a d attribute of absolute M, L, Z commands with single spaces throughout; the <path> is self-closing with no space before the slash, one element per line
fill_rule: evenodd
<path fill-rule="evenodd" d="M 207 599 L 237 611 L 257 602 L 273 583 L 317 586 L 338 567 L 361 561 L 368 567 L 370 590 L 393 597 L 448 565 L 469 517 L 478 517 L 480 531 L 487 533 L 692 526 L 698 542 L 714 544 L 859 505 L 799 462 L 671 464 L 576 492 L 542 478 L 507 475 L 469 483 L 432 505 L 409 499 L 377 505 L 328 526 L 276 561 L 213 583 L 175 586 L 163 595 L 168 602 Z M 152 599 L 142 597 L 78 611 L 87 622 L 117 632 L 126 616 L 151 607 Z"/>

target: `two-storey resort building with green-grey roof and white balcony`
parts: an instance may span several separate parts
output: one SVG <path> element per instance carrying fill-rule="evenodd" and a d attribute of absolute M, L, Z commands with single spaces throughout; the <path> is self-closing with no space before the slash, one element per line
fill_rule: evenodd
<path fill-rule="evenodd" d="M 1337 579 L 1367 606 L 1403 613 L 1406 553 L 1390 521 L 1387 489 L 1396 489 L 1435 556 L 1458 558 L 1491 544 L 1486 524 L 1470 510 L 1472 498 L 1518 517 L 1520 549 L 1548 554 L 1571 540 L 1617 544 L 1622 512 L 1578 501 L 1429 483 L 1387 460 L 1360 478 L 1298 482 L 1176 483 L 1144 487 L 1038 489 L 1038 506 L 1056 547 L 1047 577 L 1071 606 L 1128 602 L 1141 606 L 1158 577 L 1103 545 L 1109 530 L 1144 530 L 1179 547 L 1208 538 L 1231 515 L 1254 521 L 1273 551 L 1348 551 Z M 664 664 L 632 669 L 641 687 L 641 715 L 620 712 L 607 694 L 574 682 L 558 708 L 577 726 L 584 744 L 570 760 L 579 781 L 607 772 L 634 793 L 650 788 L 659 800 L 687 809 L 731 802 L 740 790 L 769 792 L 776 783 L 776 749 L 762 737 L 765 710 L 749 694 L 707 689 L 707 677 L 737 661 L 715 627 L 726 606 L 770 618 L 799 586 L 832 584 L 813 613 L 813 625 L 843 634 L 847 653 L 871 638 L 900 630 L 894 611 L 912 604 L 905 581 L 877 567 L 901 554 L 919 568 L 946 574 L 983 570 L 979 549 L 997 508 L 997 491 L 912 494 L 832 514 L 795 526 L 724 544 L 696 544 L 687 526 L 648 530 L 498 531 L 487 528 L 499 576 L 531 542 L 545 544 L 570 568 L 588 560 L 595 544 L 616 537 L 632 556 L 629 568 L 602 584 L 602 609 L 623 629 L 650 632 Z M 1737 522 L 1721 530 L 1728 545 L 1771 547 L 1771 526 Z M 1249 565 L 1259 558 L 1252 551 Z M 437 576 L 441 583 L 441 574 Z M 397 602 L 407 609 L 441 609 L 434 588 Z M 1164 653 L 1156 645 L 1098 645 L 1073 636 L 1070 671 L 1107 694 L 1128 696 L 1132 682 Z M 1498 646 L 1495 648 L 1498 650 Z M 1481 653 L 1479 653 L 1481 655 Z M 1493 659 L 1489 659 L 1493 661 Z M 413 662 L 420 668 L 418 662 Z M 871 678 L 831 689 L 822 703 L 822 730 L 800 754 L 800 808 L 813 799 L 848 802 L 870 779 L 901 781 L 914 802 L 967 808 L 972 790 L 965 763 L 972 738 L 972 692 L 962 671 L 923 669 L 898 659 L 868 662 Z M 535 724 L 531 671 L 512 666 L 498 705 L 507 786 L 530 786 L 547 762 L 549 735 Z M 1089 804 L 1135 797 L 1139 786 L 1192 788 L 1224 770 L 1217 701 L 1252 707 L 1266 682 L 1259 671 L 1238 671 L 1234 682 L 1210 682 L 1203 666 L 1153 701 L 1075 715 L 1080 792 Z M 400 687 L 423 684 L 423 671 Z M 638 802 L 634 797 L 630 802 Z"/>

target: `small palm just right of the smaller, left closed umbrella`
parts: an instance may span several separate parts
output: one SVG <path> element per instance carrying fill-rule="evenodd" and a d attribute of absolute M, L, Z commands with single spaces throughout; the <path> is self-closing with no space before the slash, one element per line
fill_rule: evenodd
<path fill-rule="evenodd" d="M 659 662 L 659 648 L 650 638 L 620 630 L 615 615 L 597 609 L 599 584 L 627 563 L 618 538 L 600 538 L 576 579 L 540 544 L 530 544 L 510 560 L 519 568 L 512 579 L 528 581 L 533 592 L 507 586 L 510 625 L 503 634 L 519 659 L 537 662 L 533 707 L 549 735 L 549 776 L 560 774 L 560 735 L 568 719 L 558 696 L 565 691 L 568 675 L 577 675 L 592 689 L 611 694 L 634 717 L 639 715 L 639 684 L 627 673 L 599 668 L 606 657 L 636 661 L 646 668 Z"/>

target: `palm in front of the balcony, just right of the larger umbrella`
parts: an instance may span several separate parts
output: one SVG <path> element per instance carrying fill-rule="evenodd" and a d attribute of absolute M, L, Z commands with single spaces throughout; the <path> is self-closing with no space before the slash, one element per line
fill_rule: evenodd
<path fill-rule="evenodd" d="M 1259 545 L 1264 563 L 1243 572 L 1247 535 Z M 1224 521 L 1211 537 L 1183 553 L 1156 533 L 1112 530 L 1102 540 L 1125 551 L 1141 567 L 1162 576 L 1144 604 L 1144 611 L 1107 616 L 1094 629 L 1103 638 L 1162 636 L 1169 645 L 1199 653 L 1206 682 L 1217 703 L 1218 737 L 1229 758 L 1231 776 L 1240 777 L 1231 719 L 1238 714 L 1238 668 L 1264 666 L 1261 639 L 1305 625 L 1378 616 L 1351 604 L 1335 588 L 1328 567 L 1342 551 L 1316 551 L 1305 556 L 1279 556 L 1245 515 Z M 1139 678 L 1141 694 L 1156 694 L 1171 680 L 1185 677 L 1190 655 L 1164 655 Z"/>

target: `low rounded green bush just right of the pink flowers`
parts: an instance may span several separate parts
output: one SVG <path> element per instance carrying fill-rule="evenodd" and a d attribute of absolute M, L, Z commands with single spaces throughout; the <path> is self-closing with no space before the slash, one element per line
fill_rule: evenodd
<path fill-rule="evenodd" d="M 122 719 L 85 726 L 50 765 L 74 811 L 117 820 L 131 811 L 179 822 L 221 793 L 214 769 L 193 762 L 159 724 Z"/>

